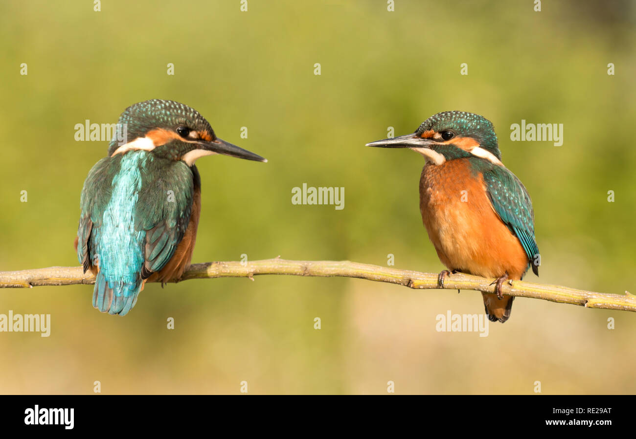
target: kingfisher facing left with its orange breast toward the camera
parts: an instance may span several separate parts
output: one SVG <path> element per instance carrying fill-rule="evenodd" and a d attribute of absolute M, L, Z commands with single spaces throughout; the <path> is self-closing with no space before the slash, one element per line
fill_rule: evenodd
<path fill-rule="evenodd" d="M 501 161 L 494 126 L 478 114 L 434 114 L 415 133 L 366 146 L 410 148 L 424 156 L 420 212 L 439 260 L 444 286 L 452 273 L 496 278 L 494 293 L 482 293 L 490 321 L 510 317 L 513 296 L 504 281 L 522 280 L 529 267 L 539 276 L 541 257 L 528 191 Z"/>

